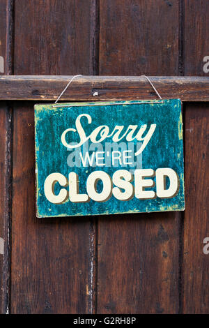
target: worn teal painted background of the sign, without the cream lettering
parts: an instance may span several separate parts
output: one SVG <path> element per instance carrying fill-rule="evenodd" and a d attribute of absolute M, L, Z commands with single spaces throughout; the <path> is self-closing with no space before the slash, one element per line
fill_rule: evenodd
<path fill-rule="evenodd" d="M 90 200 L 85 203 L 70 202 L 67 198 L 61 204 L 53 204 L 45 197 L 43 188 L 46 177 L 60 172 L 68 177 L 72 167 L 68 166 L 69 149 L 61 144 L 61 134 L 67 128 L 75 128 L 75 119 L 81 113 L 91 114 L 92 123 L 86 124 L 87 133 L 92 129 L 108 124 L 110 131 L 114 126 L 125 124 L 156 124 L 155 133 L 144 149 L 143 167 L 154 171 L 160 167 L 171 167 L 177 172 L 180 188 L 172 198 L 155 197 L 137 199 L 132 197 L 125 202 L 114 196 L 105 202 Z M 184 200 L 183 173 L 183 119 L 180 100 L 132 100 L 117 102 L 63 103 L 59 105 L 35 105 L 36 131 L 36 203 L 37 216 L 89 216 L 108 214 L 134 214 L 152 211 L 182 211 Z M 73 142 L 78 140 L 73 139 Z M 109 140 L 110 142 L 112 140 Z M 86 179 L 93 170 L 104 170 L 110 177 L 122 167 L 73 167 L 79 176 L 79 192 L 86 193 Z M 128 168 L 124 168 L 128 170 Z M 156 182 L 156 178 L 153 177 Z M 156 184 L 156 183 L 155 183 Z M 68 188 L 68 187 L 66 187 Z M 155 187 L 154 187 L 155 188 Z M 167 187 L 168 188 L 168 187 Z"/>

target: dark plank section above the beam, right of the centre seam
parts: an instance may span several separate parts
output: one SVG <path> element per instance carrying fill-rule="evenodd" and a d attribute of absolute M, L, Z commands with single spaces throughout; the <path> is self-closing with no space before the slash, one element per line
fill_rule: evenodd
<path fill-rule="evenodd" d="M 178 1 L 101 0 L 100 75 L 178 75 Z"/>

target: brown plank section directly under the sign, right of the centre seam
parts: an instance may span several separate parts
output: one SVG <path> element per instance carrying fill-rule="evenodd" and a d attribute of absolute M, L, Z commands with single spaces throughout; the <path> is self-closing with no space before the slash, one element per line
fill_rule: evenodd
<path fill-rule="evenodd" d="M 100 218 L 98 313 L 178 313 L 178 216 Z"/>

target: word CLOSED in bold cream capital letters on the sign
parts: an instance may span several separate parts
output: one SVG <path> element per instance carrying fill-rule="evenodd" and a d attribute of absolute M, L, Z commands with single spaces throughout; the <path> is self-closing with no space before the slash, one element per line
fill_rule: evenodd
<path fill-rule="evenodd" d="M 153 179 L 145 179 L 156 176 L 156 193 L 145 190 L 155 186 Z M 134 185 L 131 183 L 134 178 Z M 166 188 L 166 180 L 169 179 L 169 188 Z M 102 181 L 102 191 L 97 190 L 98 181 Z M 55 184 L 69 186 L 61 188 L 59 194 L 54 192 Z M 178 174 L 171 168 L 158 168 L 156 172 L 152 169 L 134 170 L 134 176 L 127 170 L 117 170 L 112 179 L 104 171 L 94 171 L 88 175 L 86 180 L 86 193 L 79 193 L 79 177 L 75 172 L 68 174 L 68 179 L 61 173 L 52 173 L 45 179 L 44 191 L 49 202 L 62 204 L 68 197 L 70 202 L 106 202 L 111 195 L 117 200 L 130 200 L 136 197 L 139 200 L 160 198 L 171 198 L 177 195 L 179 188 Z"/>

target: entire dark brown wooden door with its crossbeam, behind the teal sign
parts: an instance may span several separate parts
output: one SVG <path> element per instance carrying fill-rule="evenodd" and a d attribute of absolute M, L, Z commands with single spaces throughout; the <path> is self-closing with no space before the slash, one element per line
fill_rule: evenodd
<path fill-rule="evenodd" d="M 5 74 L 65 75 L 0 78 L 0 313 L 209 313 L 208 1 L 0 6 Z M 55 100 L 75 74 L 63 100 L 156 98 L 134 75 L 159 75 L 163 98 L 199 101 L 183 107 L 185 213 L 36 218 L 31 100 Z"/>

